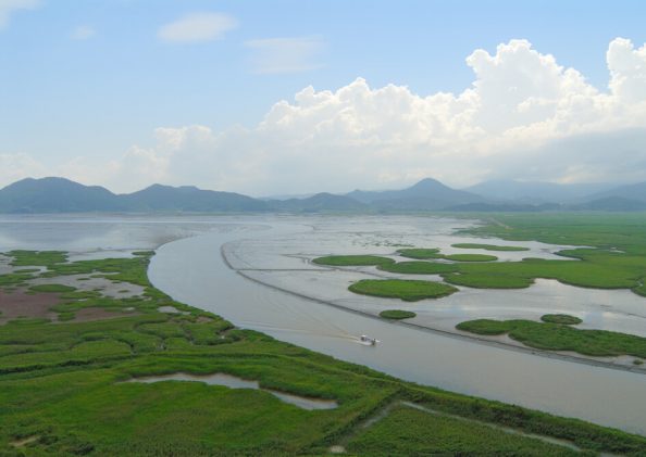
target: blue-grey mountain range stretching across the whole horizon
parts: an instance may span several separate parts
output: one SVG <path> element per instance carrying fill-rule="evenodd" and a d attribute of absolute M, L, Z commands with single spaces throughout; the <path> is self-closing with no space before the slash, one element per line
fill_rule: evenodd
<path fill-rule="evenodd" d="M 0 213 L 248 213 L 421 211 L 536 212 L 646 211 L 646 182 L 558 185 L 550 182 L 485 181 L 459 190 L 426 178 L 400 190 L 355 190 L 346 194 L 318 193 L 307 198 L 254 199 L 234 192 L 194 186 L 152 185 L 133 193 L 115 194 L 98 186 L 65 178 L 26 178 L 0 190 Z"/>

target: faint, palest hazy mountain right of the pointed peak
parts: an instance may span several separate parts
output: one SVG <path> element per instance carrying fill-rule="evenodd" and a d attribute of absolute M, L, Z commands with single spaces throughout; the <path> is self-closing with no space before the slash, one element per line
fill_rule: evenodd
<path fill-rule="evenodd" d="M 525 203 L 573 202 L 591 193 L 608 190 L 608 183 L 572 183 L 492 180 L 471 186 L 464 190 L 488 199 L 511 200 Z"/>

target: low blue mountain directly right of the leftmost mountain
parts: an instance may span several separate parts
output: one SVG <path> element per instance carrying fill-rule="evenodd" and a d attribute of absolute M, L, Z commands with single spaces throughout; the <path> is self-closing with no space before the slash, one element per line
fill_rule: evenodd
<path fill-rule="evenodd" d="M 260 200 L 233 192 L 202 190 L 194 186 L 152 185 L 138 192 L 119 195 L 129 211 L 246 212 L 265 211 Z"/>

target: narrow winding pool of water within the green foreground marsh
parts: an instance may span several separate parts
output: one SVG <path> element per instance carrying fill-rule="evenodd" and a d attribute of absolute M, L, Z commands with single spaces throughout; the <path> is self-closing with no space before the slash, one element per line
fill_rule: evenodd
<path fill-rule="evenodd" d="M 253 389 L 253 390 L 261 390 L 264 392 L 269 392 L 276 398 L 281 399 L 284 403 L 288 403 L 290 405 L 298 406 L 302 409 L 334 409 L 338 405 L 336 402 L 332 399 L 321 399 L 321 398 L 308 398 L 305 396 L 288 394 L 285 392 L 275 391 L 273 389 L 264 389 L 261 388 L 258 381 L 249 381 L 243 378 L 238 378 L 232 375 L 226 373 L 213 373 L 213 375 L 190 375 L 184 372 L 171 373 L 171 375 L 161 375 L 161 376 L 149 376 L 144 378 L 133 378 L 126 382 L 162 382 L 162 381 L 192 381 L 192 382 L 203 382 L 209 385 L 223 385 L 229 389 Z"/>

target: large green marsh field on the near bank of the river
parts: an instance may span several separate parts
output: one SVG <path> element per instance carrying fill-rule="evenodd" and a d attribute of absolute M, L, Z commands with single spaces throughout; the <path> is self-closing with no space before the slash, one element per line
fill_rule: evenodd
<path fill-rule="evenodd" d="M 59 301 L 54 309 L 66 321 L 16 318 L 0 326 L 1 455 L 325 455 L 338 444 L 365 456 L 394 449 L 568 454 L 488 427 L 560 437 L 595 452 L 646 452 L 646 437 L 420 386 L 235 329 L 153 289 L 148 254 L 76 263 L 59 262 L 59 255 L 32 257 L 48 267 L 44 275 L 52 284 L 61 275 L 82 272 L 144 285 L 146 292 L 119 300 L 96 291 L 40 292 Z M 26 291 L 28 280 L 4 289 Z M 159 313 L 160 306 L 187 314 Z M 91 313 L 97 320 L 77 320 Z M 122 382 L 174 372 L 229 373 L 266 389 L 335 399 L 338 407 L 305 410 L 264 391 L 199 382 Z M 402 401 L 440 416 L 395 408 L 362 426 Z"/>

